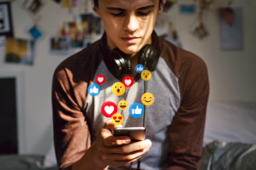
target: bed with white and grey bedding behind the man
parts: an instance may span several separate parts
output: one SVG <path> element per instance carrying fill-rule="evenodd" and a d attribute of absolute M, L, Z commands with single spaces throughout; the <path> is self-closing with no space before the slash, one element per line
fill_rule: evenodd
<path fill-rule="evenodd" d="M 45 155 L 2 155 L 0 170 L 57 170 Z M 256 170 L 256 103 L 209 102 L 199 170 Z"/>

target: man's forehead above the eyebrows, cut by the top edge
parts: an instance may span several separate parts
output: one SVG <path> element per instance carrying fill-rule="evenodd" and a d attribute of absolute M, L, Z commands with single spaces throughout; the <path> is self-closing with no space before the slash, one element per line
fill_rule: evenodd
<path fill-rule="evenodd" d="M 137 9 L 140 7 L 155 5 L 158 8 L 159 0 L 99 0 L 99 6 L 116 7 L 123 9 Z M 157 5 L 156 5 L 157 4 Z"/>

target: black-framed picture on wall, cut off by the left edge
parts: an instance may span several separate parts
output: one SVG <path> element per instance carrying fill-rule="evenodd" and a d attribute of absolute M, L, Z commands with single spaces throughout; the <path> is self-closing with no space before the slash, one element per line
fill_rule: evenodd
<path fill-rule="evenodd" d="M 12 16 L 9 2 L 0 2 L 0 46 L 5 46 L 7 37 L 13 37 Z"/>

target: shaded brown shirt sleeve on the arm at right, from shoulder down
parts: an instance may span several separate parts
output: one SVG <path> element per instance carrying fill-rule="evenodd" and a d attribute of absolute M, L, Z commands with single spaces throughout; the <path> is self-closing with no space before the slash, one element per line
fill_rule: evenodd
<path fill-rule="evenodd" d="M 209 80 L 203 60 L 186 55 L 177 73 L 182 99 L 169 129 L 169 170 L 198 169 L 201 161 Z"/>

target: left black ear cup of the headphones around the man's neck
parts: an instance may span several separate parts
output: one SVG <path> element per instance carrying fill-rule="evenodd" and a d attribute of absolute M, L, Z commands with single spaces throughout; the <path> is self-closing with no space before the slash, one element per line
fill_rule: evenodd
<path fill-rule="evenodd" d="M 132 69 L 130 60 L 125 56 L 126 54 L 124 52 L 118 48 L 115 48 L 104 57 L 104 62 L 109 72 L 115 77 L 120 77 Z"/>

